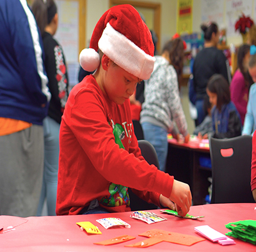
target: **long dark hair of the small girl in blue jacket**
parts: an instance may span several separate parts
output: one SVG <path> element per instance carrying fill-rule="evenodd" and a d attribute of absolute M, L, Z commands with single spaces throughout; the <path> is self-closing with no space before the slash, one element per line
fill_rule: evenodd
<path fill-rule="evenodd" d="M 207 90 L 217 95 L 217 109 L 221 111 L 221 107 L 224 104 L 230 102 L 230 89 L 227 80 L 221 74 L 214 74 L 209 79 L 207 84 Z"/>

